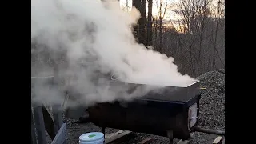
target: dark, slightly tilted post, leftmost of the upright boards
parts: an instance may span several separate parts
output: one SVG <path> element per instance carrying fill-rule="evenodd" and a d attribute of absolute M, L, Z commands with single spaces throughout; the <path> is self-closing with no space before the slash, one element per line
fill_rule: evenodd
<path fill-rule="evenodd" d="M 42 106 L 34 106 L 34 124 L 38 136 L 38 144 L 47 144 L 45 122 L 43 121 Z"/>

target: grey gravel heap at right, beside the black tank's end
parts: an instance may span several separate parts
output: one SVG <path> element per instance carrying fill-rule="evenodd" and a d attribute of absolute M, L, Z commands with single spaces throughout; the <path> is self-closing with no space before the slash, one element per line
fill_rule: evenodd
<path fill-rule="evenodd" d="M 202 98 L 198 125 L 202 128 L 225 130 L 225 70 L 215 70 L 198 77 Z M 195 133 L 192 144 L 210 144 L 216 135 Z M 225 143 L 225 142 L 223 142 Z"/>

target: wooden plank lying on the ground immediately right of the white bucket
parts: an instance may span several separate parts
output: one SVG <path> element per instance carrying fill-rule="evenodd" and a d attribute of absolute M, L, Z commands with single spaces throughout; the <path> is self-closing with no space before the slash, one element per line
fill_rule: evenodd
<path fill-rule="evenodd" d="M 122 133 L 120 133 L 122 132 Z M 121 141 L 122 138 L 126 138 L 127 135 L 131 134 L 131 131 L 128 130 L 119 130 L 118 132 L 114 133 L 114 134 L 106 134 L 105 136 L 105 143 L 112 143 L 112 142 L 116 142 L 116 141 Z"/>

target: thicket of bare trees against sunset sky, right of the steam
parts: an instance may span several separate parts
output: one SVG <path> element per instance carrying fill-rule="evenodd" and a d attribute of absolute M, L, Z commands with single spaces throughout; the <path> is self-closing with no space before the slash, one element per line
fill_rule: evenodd
<path fill-rule="evenodd" d="M 154 0 L 157 14 L 152 14 L 150 3 L 148 0 L 147 46 L 154 45 L 155 50 L 174 57 L 178 70 L 193 77 L 224 68 L 224 0 L 180 0 L 174 7 L 169 1 Z M 176 20 L 170 10 L 178 16 Z"/>

